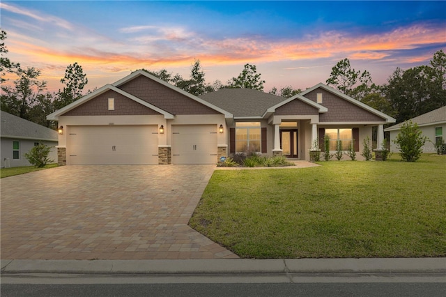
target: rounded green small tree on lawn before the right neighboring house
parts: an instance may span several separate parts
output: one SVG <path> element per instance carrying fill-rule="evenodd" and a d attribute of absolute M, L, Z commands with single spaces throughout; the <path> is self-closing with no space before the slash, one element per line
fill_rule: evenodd
<path fill-rule="evenodd" d="M 393 140 L 399 148 L 401 160 L 406 162 L 415 162 L 420 159 L 422 146 L 426 141 L 427 137 L 422 136 L 422 131 L 418 128 L 417 123 L 412 123 L 410 120 L 401 125 L 401 131 Z"/>

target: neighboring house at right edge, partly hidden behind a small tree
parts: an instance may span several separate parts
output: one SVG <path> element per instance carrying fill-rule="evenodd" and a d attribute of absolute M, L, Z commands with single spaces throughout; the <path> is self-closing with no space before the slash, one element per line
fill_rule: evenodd
<path fill-rule="evenodd" d="M 423 153 L 436 153 L 435 144 L 437 142 L 443 143 L 446 140 L 446 106 L 434 109 L 410 120 L 413 123 L 417 123 L 423 135 L 429 139 L 423 146 Z M 397 144 L 394 144 L 393 141 L 397 138 L 401 125 L 403 123 L 385 128 L 386 132 L 390 132 L 390 151 L 392 152 L 399 152 Z"/>

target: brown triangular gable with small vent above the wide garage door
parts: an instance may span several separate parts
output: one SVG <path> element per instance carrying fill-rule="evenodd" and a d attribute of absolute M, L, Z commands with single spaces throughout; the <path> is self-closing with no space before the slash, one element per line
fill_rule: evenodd
<path fill-rule="evenodd" d="M 114 98 L 114 110 L 108 110 L 108 99 Z M 127 116 L 159 114 L 153 109 L 129 99 L 120 93 L 109 90 L 71 109 L 63 116 Z"/>

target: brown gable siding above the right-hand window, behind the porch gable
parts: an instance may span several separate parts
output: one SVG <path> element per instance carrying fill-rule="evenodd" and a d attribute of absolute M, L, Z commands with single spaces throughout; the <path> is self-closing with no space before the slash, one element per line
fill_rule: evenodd
<path fill-rule="evenodd" d="M 319 121 L 321 122 L 364 122 L 385 120 L 380 116 L 372 114 L 371 112 L 321 88 L 305 94 L 305 97 L 316 102 L 317 93 L 323 94 L 323 102 L 321 105 L 328 108 L 328 112 L 319 115 Z"/>

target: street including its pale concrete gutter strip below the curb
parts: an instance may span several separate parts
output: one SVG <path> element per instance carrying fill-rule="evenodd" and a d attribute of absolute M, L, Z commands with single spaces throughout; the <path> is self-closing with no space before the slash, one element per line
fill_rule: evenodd
<path fill-rule="evenodd" d="M 445 296 L 444 274 L 1 275 L 2 297 L 20 296 Z"/>

